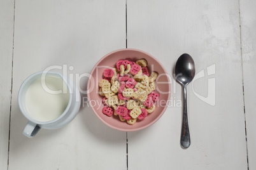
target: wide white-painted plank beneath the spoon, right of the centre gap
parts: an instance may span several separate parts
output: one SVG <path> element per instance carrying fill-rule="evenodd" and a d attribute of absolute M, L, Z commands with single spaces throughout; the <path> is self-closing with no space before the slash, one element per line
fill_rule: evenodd
<path fill-rule="evenodd" d="M 182 93 L 172 79 L 165 114 L 128 133 L 129 169 L 247 169 L 238 1 L 129 0 L 127 37 L 172 78 L 182 53 L 194 58 L 197 78 L 204 72 L 187 89 L 190 147 L 180 147 Z"/>

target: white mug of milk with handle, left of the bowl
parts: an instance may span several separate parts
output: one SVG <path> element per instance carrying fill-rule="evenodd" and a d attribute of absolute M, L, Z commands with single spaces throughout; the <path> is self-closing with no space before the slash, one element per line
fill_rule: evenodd
<path fill-rule="evenodd" d="M 55 80 L 59 81 L 61 79 L 63 88 L 58 90 L 52 90 L 48 88 L 45 81 L 46 79 L 52 79 L 52 82 L 54 83 L 55 83 Z M 34 88 L 38 86 L 38 84 L 35 85 L 36 83 L 38 83 L 38 81 L 40 81 L 41 83 L 39 90 Z M 48 99 L 47 97 L 49 97 L 49 95 L 45 91 L 43 91 L 43 89 L 41 88 L 43 88 L 44 90 L 46 89 L 46 91 L 48 90 L 47 93 L 49 93 L 50 95 L 57 95 L 60 93 L 61 95 L 63 95 L 64 91 L 67 93 L 65 95 L 66 103 L 62 106 L 63 112 L 59 108 L 55 109 L 54 104 L 52 103 L 50 103 L 51 105 L 50 108 L 46 106 L 47 102 L 48 103 L 52 102 L 53 99 L 56 99 L 55 97 L 57 97 L 57 99 L 60 100 L 56 102 L 59 102 L 61 104 L 63 100 L 62 96 L 53 96 L 54 98 Z M 39 93 L 39 92 L 37 93 L 37 91 L 43 91 L 43 93 Z M 30 93 L 31 93 L 31 96 L 29 95 Z M 43 99 L 45 101 L 40 101 L 41 100 L 41 98 L 39 98 L 40 95 L 45 95 L 43 96 L 44 97 Z M 36 100 L 34 100 L 34 98 L 36 98 Z M 36 101 L 38 101 L 38 103 L 34 105 Z M 20 86 L 20 90 L 18 92 L 18 106 L 20 107 L 22 114 L 29 120 L 29 122 L 27 122 L 27 125 L 25 126 L 23 134 L 29 138 L 32 138 L 33 136 L 36 135 L 36 133 L 38 133 L 39 129 L 41 128 L 45 128 L 45 129 L 61 128 L 62 126 L 68 124 L 75 118 L 76 114 L 80 109 L 80 103 L 81 103 L 81 97 L 80 97 L 80 92 L 78 88 L 75 86 L 73 82 L 68 82 L 68 79 L 66 77 L 63 77 L 61 74 L 57 72 L 36 72 L 35 74 L 30 75 L 22 83 L 22 85 Z M 40 108 L 41 110 L 39 110 Z M 35 116 L 40 116 L 40 114 L 43 114 L 44 111 L 49 110 L 51 112 L 55 112 L 55 110 L 57 109 L 59 109 L 59 112 L 60 112 L 59 115 L 54 115 L 54 114 L 47 115 L 47 113 L 45 113 L 45 115 L 42 115 L 44 116 L 44 119 L 41 119 L 41 118 L 39 119 L 38 117 L 35 119 Z M 33 112 L 36 112 L 36 110 L 38 111 L 38 113 L 34 114 Z M 52 118 L 53 115 L 57 117 Z"/>

